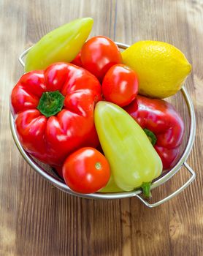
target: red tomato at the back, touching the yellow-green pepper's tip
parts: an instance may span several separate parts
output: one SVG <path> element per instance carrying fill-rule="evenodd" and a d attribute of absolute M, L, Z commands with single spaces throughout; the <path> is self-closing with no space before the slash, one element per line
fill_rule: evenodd
<path fill-rule="evenodd" d="M 88 69 L 100 81 L 107 70 L 121 63 L 122 58 L 118 46 L 108 37 L 92 37 L 83 45 L 81 50 L 83 67 Z"/>

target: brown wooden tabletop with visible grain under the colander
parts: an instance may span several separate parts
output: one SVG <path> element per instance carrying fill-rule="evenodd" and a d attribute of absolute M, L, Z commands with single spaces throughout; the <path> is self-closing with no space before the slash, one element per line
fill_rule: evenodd
<path fill-rule="evenodd" d="M 196 110 L 196 142 L 188 163 L 196 181 L 157 208 L 136 198 L 85 200 L 55 189 L 31 170 L 9 131 L 9 93 L 22 75 L 18 55 L 74 18 L 94 19 L 92 36 L 118 42 L 170 42 L 193 65 L 186 88 Z M 0 255 L 203 255 L 203 1 L 0 1 Z M 153 195 L 180 187 L 185 172 Z"/>

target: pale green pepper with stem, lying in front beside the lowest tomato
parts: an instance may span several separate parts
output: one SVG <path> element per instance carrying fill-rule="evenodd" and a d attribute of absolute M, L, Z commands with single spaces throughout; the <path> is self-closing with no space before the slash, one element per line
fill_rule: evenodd
<path fill-rule="evenodd" d="M 124 191 L 142 187 L 149 197 L 162 162 L 148 136 L 125 110 L 110 102 L 96 104 L 94 120 L 115 184 Z"/>

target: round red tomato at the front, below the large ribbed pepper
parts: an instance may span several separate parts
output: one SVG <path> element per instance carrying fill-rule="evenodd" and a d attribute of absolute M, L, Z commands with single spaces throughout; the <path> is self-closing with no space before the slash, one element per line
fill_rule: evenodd
<path fill-rule="evenodd" d="M 80 148 L 66 158 L 63 176 L 72 190 L 89 194 L 107 184 L 110 179 L 110 165 L 95 148 Z"/>

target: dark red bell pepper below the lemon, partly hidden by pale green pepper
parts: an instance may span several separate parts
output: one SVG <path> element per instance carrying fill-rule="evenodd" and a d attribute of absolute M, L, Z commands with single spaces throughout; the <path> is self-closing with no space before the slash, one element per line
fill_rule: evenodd
<path fill-rule="evenodd" d="M 137 96 L 125 110 L 137 121 L 150 138 L 163 163 L 172 168 L 180 154 L 184 124 L 169 102 Z"/>

